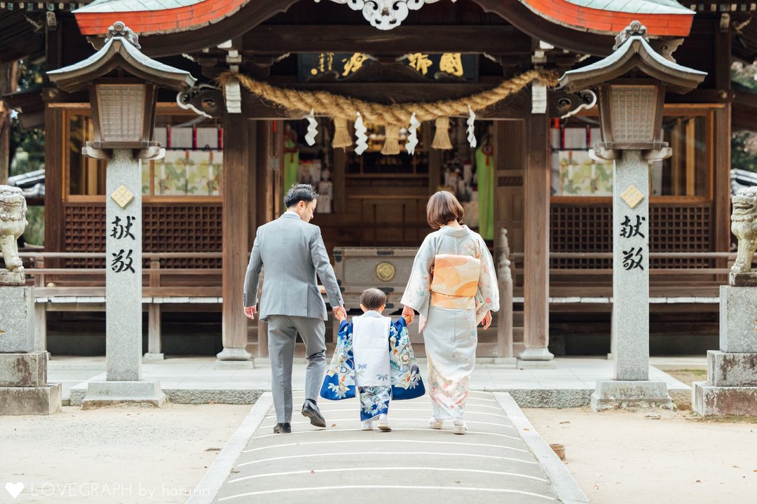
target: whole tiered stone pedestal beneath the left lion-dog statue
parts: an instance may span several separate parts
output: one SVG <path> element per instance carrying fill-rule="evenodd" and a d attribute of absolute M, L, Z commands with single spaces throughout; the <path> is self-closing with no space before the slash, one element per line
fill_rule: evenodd
<path fill-rule="evenodd" d="M 23 273 L 0 273 L 0 415 L 50 415 L 61 410 L 61 384 L 47 382 L 47 352 L 34 349 L 34 287 Z M 10 283 L 10 282 L 9 282 Z"/>

